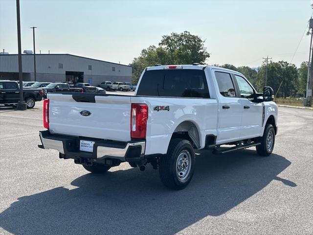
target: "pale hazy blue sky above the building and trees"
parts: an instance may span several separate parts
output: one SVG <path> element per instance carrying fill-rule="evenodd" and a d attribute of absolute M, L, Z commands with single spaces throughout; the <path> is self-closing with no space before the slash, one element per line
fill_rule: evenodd
<path fill-rule="evenodd" d="M 262 57 L 299 66 L 311 0 L 87 1 L 21 0 L 22 50 L 70 53 L 129 64 L 162 35 L 190 31 L 205 39 L 208 64 L 257 67 Z M 0 0 L 0 49 L 17 53 L 16 1 Z"/>

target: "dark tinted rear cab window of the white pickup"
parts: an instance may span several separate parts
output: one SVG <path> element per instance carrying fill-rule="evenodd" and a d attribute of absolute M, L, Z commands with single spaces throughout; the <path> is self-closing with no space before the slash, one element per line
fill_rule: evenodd
<path fill-rule="evenodd" d="M 151 70 L 143 74 L 137 95 L 209 98 L 202 70 Z"/>

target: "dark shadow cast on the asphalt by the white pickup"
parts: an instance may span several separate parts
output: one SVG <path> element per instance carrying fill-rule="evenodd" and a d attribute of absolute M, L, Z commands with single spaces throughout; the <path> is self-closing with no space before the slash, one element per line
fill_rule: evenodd
<path fill-rule="evenodd" d="M 135 168 L 86 174 L 63 187 L 24 196 L 0 214 L 13 234 L 175 234 L 207 215 L 218 216 L 265 188 L 291 162 L 254 150 L 225 155 L 202 151 L 187 188 L 164 188 L 158 172 Z M 53 180 L 53 179 L 51 179 Z"/>

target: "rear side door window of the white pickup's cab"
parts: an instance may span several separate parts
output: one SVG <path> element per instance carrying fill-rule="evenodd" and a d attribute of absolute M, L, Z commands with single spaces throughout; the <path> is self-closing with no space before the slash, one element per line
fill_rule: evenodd
<path fill-rule="evenodd" d="M 236 97 L 235 86 L 227 72 L 215 72 L 220 93 L 225 97 Z"/>

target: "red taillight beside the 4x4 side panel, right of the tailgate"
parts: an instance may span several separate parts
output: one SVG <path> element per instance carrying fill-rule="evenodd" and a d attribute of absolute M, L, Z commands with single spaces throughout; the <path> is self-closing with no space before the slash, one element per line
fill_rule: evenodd
<path fill-rule="evenodd" d="M 131 138 L 146 138 L 148 120 L 148 106 L 146 104 L 132 104 Z"/>

